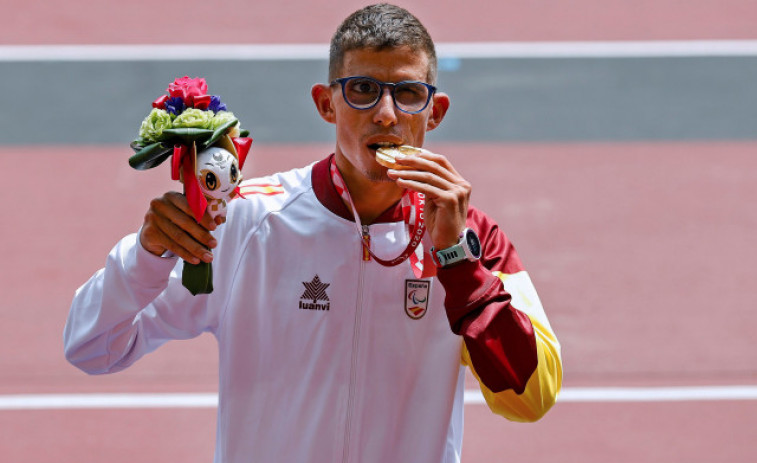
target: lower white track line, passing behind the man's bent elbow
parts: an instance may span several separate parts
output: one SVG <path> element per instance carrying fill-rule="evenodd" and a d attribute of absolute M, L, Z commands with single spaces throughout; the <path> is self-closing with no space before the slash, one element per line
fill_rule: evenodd
<path fill-rule="evenodd" d="M 574 387 L 558 402 L 678 402 L 757 400 L 757 386 Z M 465 391 L 467 405 L 483 404 L 478 390 Z M 111 408 L 213 408 L 217 394 L 17 394 L 0 395 L 2 410 Z"/>

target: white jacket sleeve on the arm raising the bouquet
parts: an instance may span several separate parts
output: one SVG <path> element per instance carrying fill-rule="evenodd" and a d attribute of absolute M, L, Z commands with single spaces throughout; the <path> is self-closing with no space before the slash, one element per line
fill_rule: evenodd
<path fill-rule="evenodd" d="M 123 370 L 169 339 L 210 329 L 204 296 L 181 285 L 177 258 L 122 239 L 105 267 L 75 293 L 63 332 L 66 359 L 89 374 Z"/>

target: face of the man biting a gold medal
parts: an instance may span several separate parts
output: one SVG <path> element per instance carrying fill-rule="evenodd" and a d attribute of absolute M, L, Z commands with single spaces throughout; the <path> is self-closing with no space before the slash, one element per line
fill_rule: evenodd
<path fill-rule="evenodd" d="M 368 76 L 383 82 L 418 80 L 428 74 L 426 53 L 408 47 L 387 50 L 351 50 L 337 77 Z M 318 95 L 317 95 L 318 94 Z M 320 101 L 319 101 L 320 96 Z M 394 106 L 389 89 L 370 109 L 354 109 L 344 101 L 341 87 L 313 89 L 321 116 L 336 124 L 336 162 L 345 180 L 359 176 L 373 182 L 389 182 L 386 168 L 375 161 L 380 144 L 423 145 L 426 131 L 434 129 L 448 106 L 447 96 L 437 93 L 428 107 L 418 114 L 407 114 Z"/>

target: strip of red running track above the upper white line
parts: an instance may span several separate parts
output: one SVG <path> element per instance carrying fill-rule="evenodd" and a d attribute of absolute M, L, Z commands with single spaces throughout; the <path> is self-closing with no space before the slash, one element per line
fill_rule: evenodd
<path fill-rule="evenodd" d="M 5 12 L 0 44 L 326 43 L 344 17 L 368 3 L 0 2 Z M 398 3 L 437 42 L 757 38 L 752 0 Z"/>

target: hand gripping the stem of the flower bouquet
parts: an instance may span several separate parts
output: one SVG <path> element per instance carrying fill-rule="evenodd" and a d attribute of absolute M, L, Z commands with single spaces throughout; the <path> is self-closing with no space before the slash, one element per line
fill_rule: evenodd
<path fill-rule="evenodd" d="M 150 201 L 139 242 L 156 256 L 171 251 L 192 264 L 211 262 L 213 254 L 210 250 L 218 243 L 210 232 L 223 222 L 222 217 L 213 219 L 206 212 L 197 223 L 187 198 L 171 191 Z"/>

